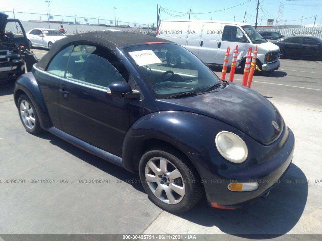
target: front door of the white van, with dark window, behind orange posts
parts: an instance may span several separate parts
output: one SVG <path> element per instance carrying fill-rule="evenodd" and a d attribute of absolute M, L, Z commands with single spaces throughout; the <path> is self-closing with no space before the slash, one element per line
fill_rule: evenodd
<path fill-rule="evenodd" d="M 236 25 L 223 25 L 223 28 L 221 31 L 221 41 L 219 42 L 219 45 L 218 45 L 217 63 L 223 64 L 223 60 L 225 58 L 225 53 L 227 52 L 228 46 L 231 47 L 228 64 L 232 63 L 232 55 L 233 55 L 232 53 L 236 45 L 238 45 L 238 53 L 239 53 L 238 55 L 239 57 L 237 61 L 239 61 L 239 58 L 242 58 L 242 56 L 246 55 L 245 53 L 243 53 L 246 48 L 246 43 L 242 43 L 244 32 L 245 32 L 244 30 L 242 30 Z M 250 46 L 252 45 L 253 44 L 251 43 Z"/>

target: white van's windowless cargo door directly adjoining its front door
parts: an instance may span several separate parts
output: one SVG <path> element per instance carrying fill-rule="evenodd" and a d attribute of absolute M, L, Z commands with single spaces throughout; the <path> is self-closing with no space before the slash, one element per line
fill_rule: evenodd
<path fill-rule="evenodd" d="M 221 26 L 219 23 L 204 23 L 198 51 L 198 57 L 204 63 L 219 63 L 217 51 Z"/>

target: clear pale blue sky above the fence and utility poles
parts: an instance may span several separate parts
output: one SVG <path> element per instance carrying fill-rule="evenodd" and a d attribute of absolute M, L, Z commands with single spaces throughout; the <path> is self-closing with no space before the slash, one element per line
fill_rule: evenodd
<path fill-rule="evenodd" d="M 76 21 L 84 21 L 86 18 L 100 18 L 114 20 L 114 9 L 116 7 L 116 19 L 128 23 L 140 23 L 140 24 L 156 24 L 156 12 L 157 4 L 162 7 L 169 9 L 161 12 L 162 19 L 174 19 L 182 18 L 187 19 L 189 14 L 184 16 L 175 17 L 173 15 L 181 15 L 177 12 L 188 12 L 189 9 L 193 13 L 204 13 L 221 10 L 228 8 L 234 5 L 238 5 L 246 2 L 247 0 L 234 0 L 234 1 L 219 1 L 219 0 L 163 0 L 163 1 L 154 1 L 154 0 L 141 0 L 141 1 L 130 1 L 130 0 L 121 0 L 121 1 L 107 1 L 107 0 L 52 0 L 50 4 L 50 14 L 54 15 L 70 15 L 74 16 L 76 14 Z M 262 25 L 266 24 L 267 18 L 276 19 L 278 16 L 278 9 L 280 0 L 260 0 L 260 9 L 259 9 L 259 20 L 260 24 L 261 16 Z M 322 1 L 283 1 L 284 2 L 284 12 L 283 12 L 283 24 L 285 19 L 287 24 L 300 24 L 303 18 L 308 18 L 317 14 L 316 23 L 321 22 L 322 18 Z M 255 23 L 256 15 L 256 3 L 257 0 L 251 0 L 240 6 L 227 9 L 224 11 L 219 11 L 216 13 L 207 13 L 207 14 L 195 14 L 199 19 L 213 19 L 213 20 L 227 20 L 242 22 L 244 18 L 244 13 L 247 10 L 246 19 L 247 23 Z M 30 12 L 30 13 L 43 13 L 47 14 L 48 5 L 45 3 L 45 0 L 1 0 L 0 12 L 5 12 L 9 17 L 13 17 L 12 11 L 15 12 Z M 172 10 L 172 11 L 170 11 Z M 174 12 L 177 11 L 177 12 Z M 166 13 L 168 12 L 168 13 Z M 79 18 L 78 18 L 79 16 Z M 195 19 L 195 16 L 191 14 L 191 19 Z M 21 14 L 15 13 L 15 17 L 21 20 L 46 20 L 46 15 L 40 14 Z M 54 20 L 61 21 L 73 21 L 74 17 L 64 17 L 64 16 L 54 16 Z M 97 23 L 97 20 L 89 19 L 90 23 Z M 101 20 L 100 23 L 104 23 L 104 20 Z M 302 25 L 310 24 L 314 22 L 314 18 L 303 19 Z"/>

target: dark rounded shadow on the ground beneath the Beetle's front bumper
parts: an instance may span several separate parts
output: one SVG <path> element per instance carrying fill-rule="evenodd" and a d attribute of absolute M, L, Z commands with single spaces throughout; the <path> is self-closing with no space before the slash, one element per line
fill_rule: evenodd
<path fill-rule="evenodd" d="M 205 196 L 183 214 L 175 214 L 205 227 L 216 226 L 222 232 L 243 238 L 274 238 L 289 232 L 298 222 L 308 197 L 305 174 L 293 163 L 279 185 L 266 198 L 237 210 L 207 205 Z"/>

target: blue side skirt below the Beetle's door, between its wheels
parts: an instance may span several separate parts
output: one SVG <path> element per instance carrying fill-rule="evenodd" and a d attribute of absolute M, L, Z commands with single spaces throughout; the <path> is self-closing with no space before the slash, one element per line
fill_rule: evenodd
<path fill-rule="evenodd" d="M 105 150 L 99 149 L 83 140 L 80 140 L 76 137 L 71 136 L 70 134 L 67 134 L 66 132 L 63 132 L 62 130 L 59 130 L 55 127 L 51 127 L 48 129 L 48 131 L 55 136 L 58 136 L 59 138 L 62 138 L 65 141 L 68 141 L 69 143 L 73 144 L 74 146 L 77 146 L 85 151 L 90 152 L 91 154 L 98 156 L 104 160 L 107 160 L 109 162 L 112 162 L 120 167 L 123 167 L 122 158 L 115 156 L 112 153 L 109 153 Z"/>

